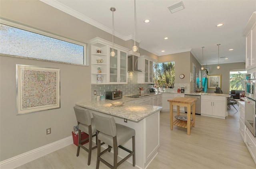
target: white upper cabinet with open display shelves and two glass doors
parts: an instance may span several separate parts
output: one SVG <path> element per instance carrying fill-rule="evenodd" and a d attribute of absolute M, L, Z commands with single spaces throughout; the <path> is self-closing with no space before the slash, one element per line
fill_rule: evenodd
<path fill-rule="evenodd" d="M 112 43 L 96 37 L 91 44 L 91 83 L 92 84 L 127 84 L 127 53 L 129 49 L 114 45 L 114 57 L 110 56 Z M 101 53 L 97 53 L 100 50 Z M 102 60 L 97 63 L 96 60 Z M 100 72 L 98 70 L 101 70 Z M 97 83 L 97 75 L 102 75 L 102 83 Z"/>

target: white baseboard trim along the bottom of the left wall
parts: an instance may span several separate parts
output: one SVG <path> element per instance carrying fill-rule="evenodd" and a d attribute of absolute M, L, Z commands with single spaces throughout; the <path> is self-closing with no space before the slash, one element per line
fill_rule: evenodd
<path fill-rule="evenodd" d="M 39 157 L 42 157 L 49 153 L 52 153 L 58 149 L 66 147 L 72 143 L 73 143 L 72 136 L 64 138 L 62 140 L 55 141 L 53 143 L 33 149 L 26 153 L 22 153 L 20 155 L 10 158 L 10 159 L 0 161 L 0 168 L 1 169 L 14 169 L 16 167 L 19 167 L 20 165 L 23 165 L 30 161 L 38 159 Z"/>

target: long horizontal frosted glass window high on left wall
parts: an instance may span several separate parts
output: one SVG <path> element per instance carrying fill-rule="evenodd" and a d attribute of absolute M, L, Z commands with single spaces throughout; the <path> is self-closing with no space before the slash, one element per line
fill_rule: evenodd
<path fill-rule="evenodd" d="M 18 27 L 22 29 L 0 24 L 0 53 L 79 65 L 87 64 L 86 44 L 20 25 Z"/>

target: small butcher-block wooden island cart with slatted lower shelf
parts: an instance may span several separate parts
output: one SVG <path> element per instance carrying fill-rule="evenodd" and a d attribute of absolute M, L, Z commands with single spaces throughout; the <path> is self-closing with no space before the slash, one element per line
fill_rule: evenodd
<path fill-rule="evenodd" d="M 187 129 L 187 134 L 190 135 L 190 128 L 195 126 L 195 114 L 196 114 L 196 99 L 197 98 L 184 98 L 184 97 L 174 97 L 172 99 L 167 100 L 170 102 L 170 130 L 172 130 L 172 126 L 179 126 L 182 128 Z M 177 106 L 177 116 L 180 115 L 180 106 L 185 106 L 188 108 L 188 121 L 186 123 L 181 122 L 178 119 L 173 120 L 173 111 L 172 111 L 172 105 Z M 190 122 L 190 112 L 191 112 L 191 106 L 192 106 L 192 118 L 193 120 Z"/>

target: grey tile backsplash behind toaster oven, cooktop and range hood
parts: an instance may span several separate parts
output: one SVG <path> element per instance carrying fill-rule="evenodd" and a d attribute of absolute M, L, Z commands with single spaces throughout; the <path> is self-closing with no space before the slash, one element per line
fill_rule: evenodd
<path fill-rule="evenodd" d="M 175 84 L 174 89 L 167 89 L 170 92 L 176 92 L 176 86 L 186 87 L 189 92 L 189 84 Z M 128 73 L 128 84 L 116 84 L 116 85 L 91 85 L 91 98 L 96 100 L 96 95 L 94 95 L 94 90 L 96 90 L 97 95 L 105 95 L 105 92 L 120 90 L 123 92 L 123 96 L 128 96 L 132 94 L 139 94 L 139 87 L 144 88 L 144 94 L 150 93 L 150 84 L 138 84 L 137 83 L 137 73 Z M 186 92 L 186 91 L 185 91 Z"/>

